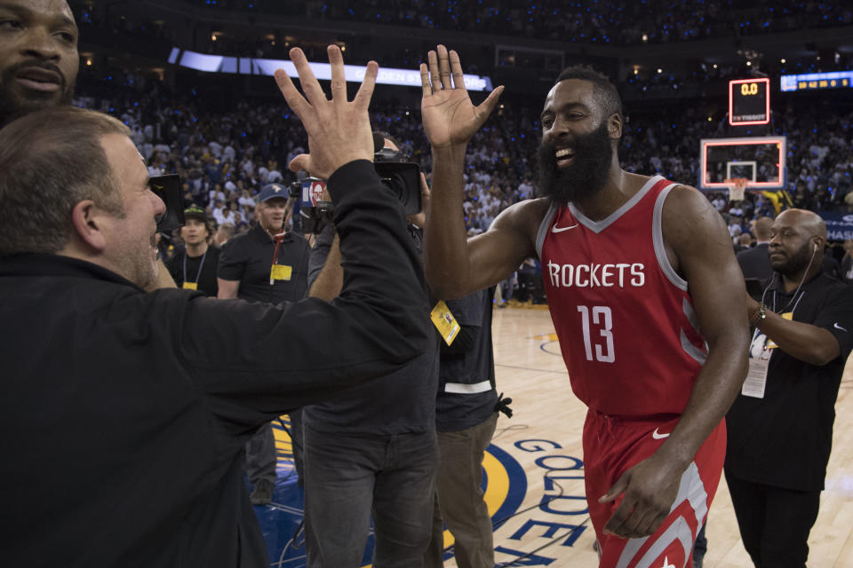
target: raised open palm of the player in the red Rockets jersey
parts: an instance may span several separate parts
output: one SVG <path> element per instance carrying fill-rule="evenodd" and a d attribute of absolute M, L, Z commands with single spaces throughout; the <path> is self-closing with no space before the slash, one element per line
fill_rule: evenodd
<path fill-rule="evenodd" d="M 491 111 L 498 105 L 504 88 L 491 91 L 479 106 L 474 106 L 463 80 L 462 64 L 456 51 L 439 45 L 427 56 L 429 66 L 420 64 L 423 88 L 420 110 L 426 138 L 433 147 L 467 144 Z"/>

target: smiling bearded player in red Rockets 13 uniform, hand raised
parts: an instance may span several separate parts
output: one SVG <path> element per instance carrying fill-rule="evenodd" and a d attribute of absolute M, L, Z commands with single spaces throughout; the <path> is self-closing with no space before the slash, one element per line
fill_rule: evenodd
<path fill-rule="evenodd" d="M 622 170 L 618 92 L 592 69 L 570 67 L 541 115 L 544 197 L 466 240 L 466 146 L 503 88 L 474 106 L 458 54 L 442 45 L 420 73 L 434 295 L 465 296 L 538 256 L 571 388 L 589 408 L 586 500 L 600 566 L 691 565 L 749 339 L 744 280 L 719 213 L 692 187 Z"/>

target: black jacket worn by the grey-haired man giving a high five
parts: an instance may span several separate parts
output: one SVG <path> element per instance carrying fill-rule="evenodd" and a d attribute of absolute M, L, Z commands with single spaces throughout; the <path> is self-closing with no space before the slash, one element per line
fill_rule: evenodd
<path fill-rule="evenodd" d="M 431 333 L 403 209 L 371 162 L 329 188 L 347 270 L 331 304 L 146 294 L 67 257 L 0 260 L 0 565 L 269 565 L 245 442 Z"/>

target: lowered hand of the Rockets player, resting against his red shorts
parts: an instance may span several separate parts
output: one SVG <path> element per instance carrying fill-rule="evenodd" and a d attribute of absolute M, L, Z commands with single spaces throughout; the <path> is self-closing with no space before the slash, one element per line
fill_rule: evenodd
<path fill-rule="evenodd" d="M 599 499 L 602 503 L 615 501 L 625 493 L 604 525 L 604 532 L 624 539 L 636 539 L 658 530 L 673 506 L 682 473 L 674 469 L 671 462 L 655 455 L 628 469 Z"/>

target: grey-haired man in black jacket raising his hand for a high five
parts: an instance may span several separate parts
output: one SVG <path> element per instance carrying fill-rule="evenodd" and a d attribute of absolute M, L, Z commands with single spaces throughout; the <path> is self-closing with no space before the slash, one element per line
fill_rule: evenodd
<path fill-rule="evenodd" d="M 127 127 L 61 106 L 0 130 L 0 564 L 268 566 L 248 438 L 432 346 L 419 255 L 370 162 L 378 66 L 348 102 L 337 46 L 329 58 L 331 100 L 299 49 L 307 100 L 276 82 L 310 140 L 298 161 L 336 203 L 332 303 L 145 293 L 165 208 Z"/>

